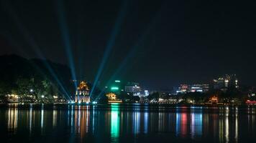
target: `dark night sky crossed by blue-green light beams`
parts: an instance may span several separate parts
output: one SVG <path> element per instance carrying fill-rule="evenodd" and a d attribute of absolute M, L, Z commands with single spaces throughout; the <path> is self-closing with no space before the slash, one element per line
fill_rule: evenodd
<path fill-rule="evenodd" d="M 242 84 L 256 85 L 255 7 L 246 1 L 1 0 L 0 54 L 69 66 L 72 54 L 76 77 L 93 82 L 109 49 L 101 83 L 116 73 L 150 89 L 172 89 L 237 74 Z"/>

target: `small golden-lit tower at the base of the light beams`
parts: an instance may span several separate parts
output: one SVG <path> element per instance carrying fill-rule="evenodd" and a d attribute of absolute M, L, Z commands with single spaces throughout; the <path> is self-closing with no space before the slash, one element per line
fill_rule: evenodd
<path fill-rule="evenodd" d="M 76 103 L 89 103 L 90 96 L 89 96 L 89 88 L 86 82 L 81 82 L 76 90 Z"/>

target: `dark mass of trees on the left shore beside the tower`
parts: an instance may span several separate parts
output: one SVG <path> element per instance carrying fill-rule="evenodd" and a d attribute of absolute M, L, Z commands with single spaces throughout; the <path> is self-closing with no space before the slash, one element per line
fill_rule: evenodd
<path fill-rule="evenodd" d="M 0 56 L 0 97 L 18 94 L 67 98 L 74 92 L 70 69 L 43 59 L 24 59 L 17 55 Z M 59 82 L 58 82 L 59 81 Z M 24 97 L 22 97 L 24 95 Z M 26 97 L 27 98 L 27 97 Z"/>

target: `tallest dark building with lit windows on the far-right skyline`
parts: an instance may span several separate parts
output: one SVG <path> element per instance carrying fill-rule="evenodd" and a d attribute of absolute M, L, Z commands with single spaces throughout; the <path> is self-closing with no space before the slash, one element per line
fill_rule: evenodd
<path fill-rule="evenodd" d="M 239 88 L 236 74 L 226 74 L 223 77 L 214 79 L 214 89 L 227 90 L 228 88 Z"/>

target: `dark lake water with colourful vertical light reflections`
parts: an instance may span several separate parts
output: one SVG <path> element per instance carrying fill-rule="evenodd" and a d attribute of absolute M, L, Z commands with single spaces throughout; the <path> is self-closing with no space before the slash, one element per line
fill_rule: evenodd
<path fill-rule="evenodd" d="M 252 107 L 0 106 L 1 142 L 255 142 Z"/>

